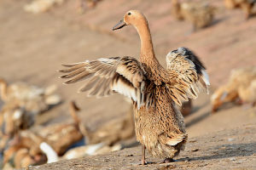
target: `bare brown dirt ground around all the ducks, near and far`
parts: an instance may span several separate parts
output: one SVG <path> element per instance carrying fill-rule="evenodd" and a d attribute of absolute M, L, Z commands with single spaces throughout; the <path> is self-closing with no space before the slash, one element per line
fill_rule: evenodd
<path fill-rule="evenodd" d="M 92 128 L 125 114 L 129 105 L 121 95 L 87 98 L 85 94 L 76 93 L 81 83 L 62 85 L 57 70 L 61 69 L 61 64 L 85 59 L 123 55 L 138 57 L 139 39 L 135 29 L 127 26 L 121 31 L 111 31 L 131 8 L 142 10 L 148 17 L 155 53 L 160 62 L 165 65 L 166 54 L 174 48 L 191 48 L 207 66 L 212 90 L 227 81 L 232 69 L 256 65 L 256 17 L 245 21 L 241 10 L 226 10 L 222 0 L 209 1 L 218 7 L 216 20 L 211 27 L 195 33 L 191 33 L 188 22 L 177 22 L 172 18 L 168 0 L 113 0 L 111 3 L 104 0 L 84 14 L 78 13 L 77 0 L 67 0 L 44 14 L 26 13 L 23 6 L 29 2 L 0 2 L 0 77 L 8 82 L 58 86 L 63 103 L 39 116 L 38 124 L 69 121 L 67 103 L 70 100 L 78 103 L 82 109 L 79 116 Z M 222 111 L 212 115 L 209 98 L 210 95 L 202 94 L 194 102 L 193 114 L 185 118 L 189 144 L 187 151 L 177 158 L 179 161 L 167 167 L 149 165 L 150 168 L 256 168 L 255 110 L 249 105 L 226 105 Z M 193 151 L 195 148 L 198 150 Z M 111 165 L 120 165 L 120 162 L 127 166 L 125 169 L 149 168 L 136 166 L 139 151 L 131 148 L 113 155 L 61 161 L 34 168 L 79 169 L 90 166 L 89 169 L 100 169 L 102 166 L 102 169 L 108 169 Z"/>

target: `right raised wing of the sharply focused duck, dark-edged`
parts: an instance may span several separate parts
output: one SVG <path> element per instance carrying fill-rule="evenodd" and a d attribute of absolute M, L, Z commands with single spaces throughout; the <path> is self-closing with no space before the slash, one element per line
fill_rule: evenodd
<path fill-rule="evenodd" d="M 168 88 L 177 105 L 188 98 L 195 99 L 201 90 L 210 86 L 209 77 L 201 61 L 188 48 L 178 48 L 166 55 L 170 82 Z"/>

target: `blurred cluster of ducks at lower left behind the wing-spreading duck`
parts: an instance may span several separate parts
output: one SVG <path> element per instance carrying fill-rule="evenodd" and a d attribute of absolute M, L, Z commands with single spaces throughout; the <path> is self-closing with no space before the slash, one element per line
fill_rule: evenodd
<path fill-rule="evenodd" d="M 26 82 L 8 84 L 0 79 L 1 168 L 13 169 L 63 159 L 92 156 L 120 150 L 121 140 L 134 136 L 132 111 L 124 119 L 113 120 L 91 130 L 78 116 L 75 102 L 68 106 L 73 122 L 38 125 L 37 119 L 61 104 L 55 86 L 38 88 Z"/>

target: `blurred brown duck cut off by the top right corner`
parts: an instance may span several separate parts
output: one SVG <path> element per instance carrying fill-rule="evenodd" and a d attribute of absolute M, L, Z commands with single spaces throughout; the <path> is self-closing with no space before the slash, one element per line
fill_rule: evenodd
<path fill-rule="evenodd" d="M 253 16 L 253 6 L 256 0 L 224 0 L 226 8 L 241 8 L 244 11 L 246 19 Z"/>

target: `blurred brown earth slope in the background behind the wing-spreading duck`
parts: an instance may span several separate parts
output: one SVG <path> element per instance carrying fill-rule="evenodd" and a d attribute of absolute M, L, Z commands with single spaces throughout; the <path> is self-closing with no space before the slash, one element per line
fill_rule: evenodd
<path fill-rule="evenodd" d="M 148 16 L 155 52 L 163 65 L 171 49 L 189 47 L 207 66 L 212 87 L 226 82 L 232 68 L 256 65 L 256 17 L 245 21 L 241 10 L 225 10 L 222 0 L 211 1 L 219 8 L 218 22 L 193 34 L 189 34 L 189 23 L 173 20 L 169 0 L 113 0 L 111 3 L 104 0 L 82 15 L 76 10 L 77 1 L 66 1 L 44 14 L 26 13 L 23 10 L 29 3 L 26 0 L 0 3 L 0 77 L 8 82 L 24 81 L 42 87 L 56 84 L 63 98 L 63 104 L 40 116 L 38 123 L 70 119 L 67 103 L 72 99 L 82 109 L 79 115 L 82 121 L 92 128 L 125 114 L 129 105 L 121 95 L 87 98 L 76 93 L 82 83 L 64 86 L 56 70 L 61 69 L 61 64 L 84 59 L 137 57 L 139 39 L 135 29 L 127 26 L 121 31 L 111 31 L 130 8 L 141 9 Z M 110 6 L 114 10 L 109 10 Z M 255 114 L 242 107 L 210 116 L 209 97 L 202 95 L 195 100 L 195 114 L 186 117 L 190 136 L 256 122 Z"/>

